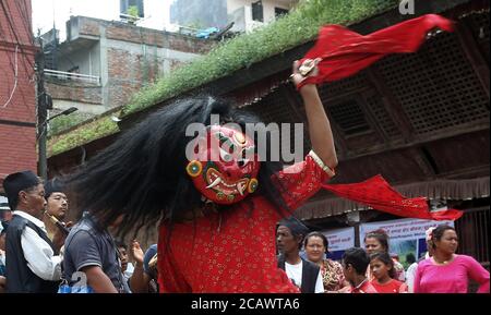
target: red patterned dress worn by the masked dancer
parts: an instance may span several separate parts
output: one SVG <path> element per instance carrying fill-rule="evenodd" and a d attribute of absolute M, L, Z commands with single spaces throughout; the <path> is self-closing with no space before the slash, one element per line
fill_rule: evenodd
<path fill-rule="evenodd" d="M 311 152 L 275 180 L 289 192 L 284 195 L 286 204 L 296 209 L 333 175 Z M 168 244 L 168 229 L 163 225 L 158 242 L 160 292 L 299 292 L 277 267 L 275 233 L 280 219 L 272 203 L 255 195 L 220 214 L 175 223 Z"/>

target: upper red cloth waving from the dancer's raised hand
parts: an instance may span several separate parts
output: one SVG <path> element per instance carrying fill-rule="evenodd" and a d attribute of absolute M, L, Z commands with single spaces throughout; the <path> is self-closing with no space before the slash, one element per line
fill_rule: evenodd
<path fill-rule="evenodd" d="M 390 53 L 415 52 L 430 31 L 453 31 L 453 22 L 427 14 L 362 36 L 340 25 L 321 28 L 315 46 L 301 60 L 321 58 L 319 74 L 298 85 L 336 81 L 369 66 Z"/>

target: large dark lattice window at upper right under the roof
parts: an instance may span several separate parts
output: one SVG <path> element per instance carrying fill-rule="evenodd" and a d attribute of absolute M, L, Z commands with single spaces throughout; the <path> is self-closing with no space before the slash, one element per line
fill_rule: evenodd
<path fill-rule="evenodd" d="M 419 135 L 489 123 L 489 99 L 454 34 L 376 66 Z"/>

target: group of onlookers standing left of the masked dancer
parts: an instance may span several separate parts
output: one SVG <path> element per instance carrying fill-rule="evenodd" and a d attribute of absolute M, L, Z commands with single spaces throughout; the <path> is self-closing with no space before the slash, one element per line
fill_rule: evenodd
<path fill-rule="evenodd" d="M 0 226 L 0 292 L 61 293 L 63 283 L 77 292 L 158 292 L 156 244 L 146 253 L 137 241 L 128 247 L 88 215 L 63 222 L 69 202 L 56 180 L 23 171 L 3 186 L 13 211 Z"/>

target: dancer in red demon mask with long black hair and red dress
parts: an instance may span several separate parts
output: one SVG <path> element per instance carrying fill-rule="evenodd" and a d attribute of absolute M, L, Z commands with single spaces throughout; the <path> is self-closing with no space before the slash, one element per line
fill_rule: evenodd
<path fill-rule="evenodd" d="M 302 64 L 315 74 L 316 61 Z M 299 62 L 292 72 L 295 84 L 306 80 Z M 299 292 L 277 267 L 275 227 L 321 190 L 337 165 L 315 85 L 299 93 L 313 147 L 304 160 L 283 169 L 267 158 L 268 147 L 261 160 L 266 141 L 255 138 L 271 134 L 247 131 L 259 118 L 212 96 L 187 98 L 149 116 L 73 173 L 68 183 L 76 205 L 101 218 L 103 227 L 123 215 L 121 234 L 161 219 L 160 292 Z M 187 135 L 196 124 L 199 135 Z"/>

